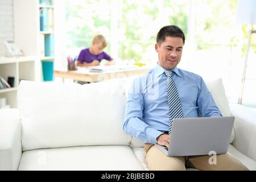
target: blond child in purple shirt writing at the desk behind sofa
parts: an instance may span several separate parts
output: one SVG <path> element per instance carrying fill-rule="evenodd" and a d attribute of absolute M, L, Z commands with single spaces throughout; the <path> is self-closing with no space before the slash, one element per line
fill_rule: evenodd
<path fill-rule="evenodd" d="M 109 60 L 105 65 L 114 64 L 114 60 L 103 49 L 107 46 L 103 35 L 97 35 L 93 38 L 92 46 L 82 49 L 77 59 L 77 66 L 89 67 L 100 65 L 102 59 Z"/>

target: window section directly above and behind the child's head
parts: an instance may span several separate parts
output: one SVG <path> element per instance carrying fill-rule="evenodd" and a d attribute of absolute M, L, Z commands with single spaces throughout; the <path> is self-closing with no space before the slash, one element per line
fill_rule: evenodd
<path fill-rule="evenodd" d="M 72 49 L 73 55 L 82 48 L 89 47 L 97 34 L 110 39 L 111 0 L 65 1 L 65 30 L 67 34 L 66 49 Z M 109 41 L 108 41 L 109 43 Z M 110 45 L 105 51 L 109 52 Z"/>

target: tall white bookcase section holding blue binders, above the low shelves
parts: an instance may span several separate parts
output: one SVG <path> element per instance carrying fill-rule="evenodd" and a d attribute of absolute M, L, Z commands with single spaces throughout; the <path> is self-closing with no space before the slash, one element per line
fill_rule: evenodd
<path fill-rule="evenodd" d="M 14 42 L 24 55 L 36 57 L 35 80 L 53 81 L 54 1 L 14 0 L 13 5 Z"/>

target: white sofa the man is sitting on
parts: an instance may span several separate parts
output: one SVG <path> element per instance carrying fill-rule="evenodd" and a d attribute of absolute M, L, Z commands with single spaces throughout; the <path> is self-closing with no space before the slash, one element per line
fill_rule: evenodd
<path fill-rule="evenodd" d="M 148 170 L 143 143 L 122 128 L 130 81 L 20 82 L 18 109 L 0 110 L 0 170 Z M 221 80 L 207 84 L 222 113 L 236 116 L 229 152 L 256 170 L 256 113 L 230 112 Z"/>

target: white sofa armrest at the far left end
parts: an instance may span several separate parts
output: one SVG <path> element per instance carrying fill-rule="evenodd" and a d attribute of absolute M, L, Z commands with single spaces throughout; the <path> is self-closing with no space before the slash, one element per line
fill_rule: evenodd
<path fill-rule="evenodd" d="M 22 155 L 18 109 L 0 109 L 0 171 L 17 170 Z"/>

